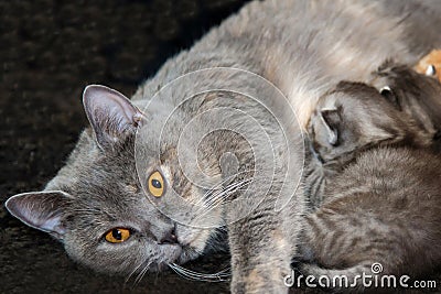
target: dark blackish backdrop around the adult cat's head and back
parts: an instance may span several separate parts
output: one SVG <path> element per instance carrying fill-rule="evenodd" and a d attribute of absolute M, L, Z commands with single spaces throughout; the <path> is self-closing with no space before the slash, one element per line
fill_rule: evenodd
<path fill-rule="evenodd" d="M 95 274 L 71 261 L 61 243 L 12 218 L 3 203 L 40 190 L 63 165 L 87 126 L 86 85 L 130 97 L 168 57 L 244 2 L 0 0 L 0 293 L 227 292 L 228 283 L 171 271 L 139 284 Z M 206 258 L 193 269 L 216 272 L 224 260 Z"/>

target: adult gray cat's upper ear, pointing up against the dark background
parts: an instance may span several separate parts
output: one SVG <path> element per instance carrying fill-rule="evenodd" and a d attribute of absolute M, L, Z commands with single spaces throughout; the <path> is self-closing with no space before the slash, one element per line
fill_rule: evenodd
<path fill-rule="evenodd" d="M 103 148 L 125 138 L 127 132 L 135 132 L 143 118 L 126 96 L 105 86 L 87 86 L 83 92 L 83 105 Z"/>

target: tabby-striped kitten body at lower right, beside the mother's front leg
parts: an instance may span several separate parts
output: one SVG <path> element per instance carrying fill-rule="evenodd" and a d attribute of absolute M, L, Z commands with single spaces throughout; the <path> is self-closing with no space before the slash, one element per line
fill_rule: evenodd
<path fill-rule="evenodd" d="M 306 217 L 304 274 L 418 279 L 441 264 L 441 160 L 427 150 L 370 149 L 334 176 Z M 358 280 L 358 287 L 363 287 Z"/>

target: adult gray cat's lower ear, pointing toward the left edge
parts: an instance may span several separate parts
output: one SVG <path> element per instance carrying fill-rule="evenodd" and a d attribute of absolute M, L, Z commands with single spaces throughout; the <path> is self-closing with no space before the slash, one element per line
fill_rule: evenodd
<path fill-rule="evenodd" d="M 62 190 L 30 192 L 12 196 L 4 205 L 12 216 L 25 225 L 62 240 L 65 228 L 61 219 L 69 198 Z"/>

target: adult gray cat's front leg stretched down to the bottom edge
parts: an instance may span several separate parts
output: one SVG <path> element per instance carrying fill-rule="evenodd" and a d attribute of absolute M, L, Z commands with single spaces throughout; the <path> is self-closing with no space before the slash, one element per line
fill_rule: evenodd
<path fill-rule="evenodd" d="M 291 273 L 302 202 L 292 197 L 284 207 L 277 206 L 293 189 L 282 192 L 282 182 L 278 181 L 266 189 L 265 173 L 244 177 L 247 170 L 239 171 L 239 160 L 230 153 L 219 162 L 227 196 L 224 211 L 232 254 L 232 293 L 288 293 L 284 281 Z"/>

